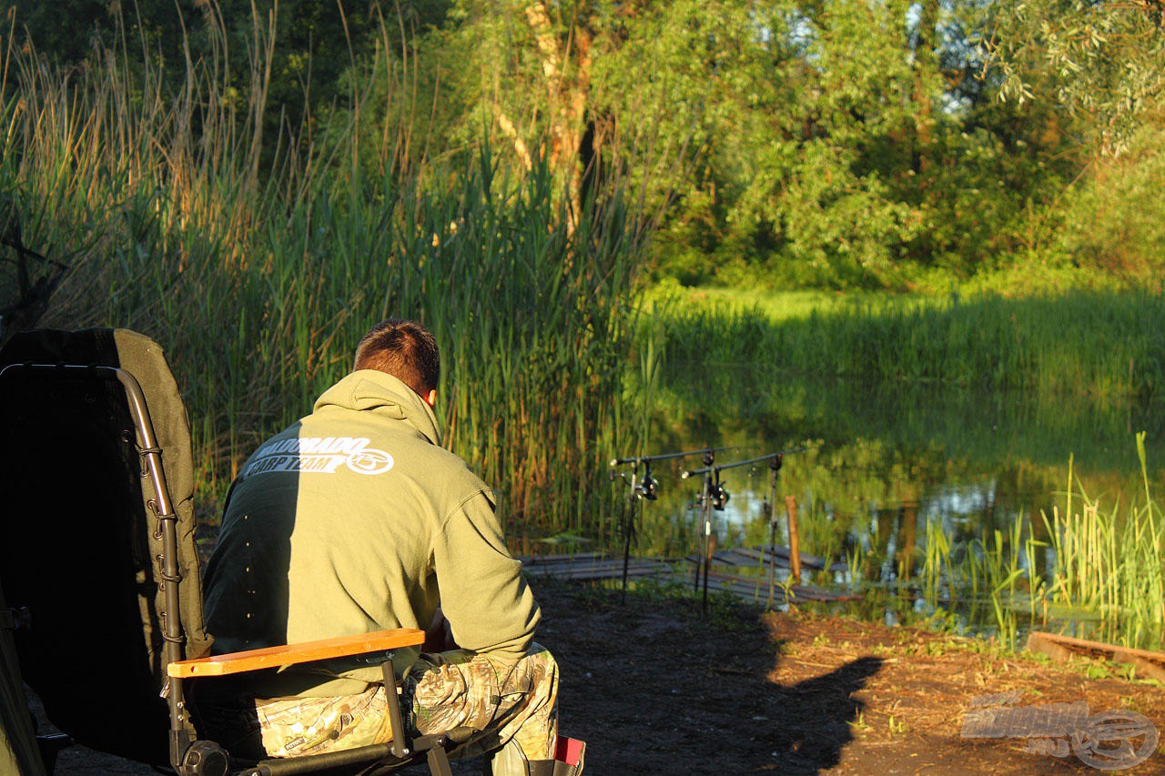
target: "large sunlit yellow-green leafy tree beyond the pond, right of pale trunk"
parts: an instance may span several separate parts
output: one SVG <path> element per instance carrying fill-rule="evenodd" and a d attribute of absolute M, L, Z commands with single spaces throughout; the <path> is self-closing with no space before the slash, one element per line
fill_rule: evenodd
<path fill-rule="evenodd" d="M 980 99 L 973 19 L 938 0 L 673 3 L 603 59 L 629 93 L 643 72 L 671 84 L 662 141 L 682 133 L 673 117 L 693 130 L 664 239 L 831 284 L 927 261 L 942 176 L 979 142 L 962 140 Z"/>

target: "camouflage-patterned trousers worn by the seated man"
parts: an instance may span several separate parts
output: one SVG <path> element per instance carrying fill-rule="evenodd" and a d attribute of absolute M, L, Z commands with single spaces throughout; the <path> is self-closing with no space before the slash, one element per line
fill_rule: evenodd
<path fill-rule="evenodd" d="M 457 732 L 456 756 L 504 747 L 495 774 L 524 773 L 522 760 L 553 757 L 558 665 L 538 644 L 513 665 L 465 652 L 422 655 L 402 687 L 410 733 Z M 356 696 L 256 698 L 255 714 L 267 754 L 290 757 L 391 740 L 388 703 L 377 685 Z"/>

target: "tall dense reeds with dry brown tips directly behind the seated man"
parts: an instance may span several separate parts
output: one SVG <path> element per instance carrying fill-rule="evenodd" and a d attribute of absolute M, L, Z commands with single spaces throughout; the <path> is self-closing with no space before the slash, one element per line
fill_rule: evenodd
<path fill-rule="evenodd" d="M 273 136 L 264 29 L 233 78 L 225 58 L 175 79 L 150 56 L 98 51 L 65 72 L 6 52 L 0 188 L 24 242 L 71 267 L 41 324 L 162 344 L 213 518 L 242 459 L 310 411 L 370 324 L 422 320 L 443 348 L 445 443 L 503 516 L 601 532 L 640 233 L 619 181 L 574 226 L 545 169 L 510 176 L 488 142 L 404 156 L 408 73 L 383 50 L 332 126 Z"/>

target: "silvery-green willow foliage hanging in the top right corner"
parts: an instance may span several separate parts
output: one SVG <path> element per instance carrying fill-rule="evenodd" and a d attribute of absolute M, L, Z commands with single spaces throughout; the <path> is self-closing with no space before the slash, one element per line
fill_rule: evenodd
<path fill-rule="evenodd" d="M 1042 263 L 1160 290 L 1165 276 L 1165 3 L 1000 5 L 1001 97 L 1054 118 L 1075 170 L 1038 213 Z M 1003 34 L 1005 31 L 1005 34 Z M 1033 230 L 1035 231 L 1035 230 Z"/>

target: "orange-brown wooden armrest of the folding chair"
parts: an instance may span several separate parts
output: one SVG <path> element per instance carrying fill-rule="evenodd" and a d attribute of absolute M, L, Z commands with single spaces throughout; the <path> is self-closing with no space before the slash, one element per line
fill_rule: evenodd
<path fill-rule="evenodd" d="M 375 633 L 360 633 L 352 636 L 305 641 L 298 644 L 264 647 L 263 649 L 250 649 L 245 652 L 231 652 L 230 655 L 213 655 L 211 657 L 200 657 L 196 661 L 179 661 L 168 664 L 165 672 L 169 676 L 181 679 L 189 679 L 195 676 L 226 676 L 227 673 L 257 671 L 264 668 L 326 661 L 333 657 L 381 652 L 389 649 L 400 649 L 401 647 L 418 647 L 424 640 L 425 632 L 415 628 L 377 630 Z"/>

